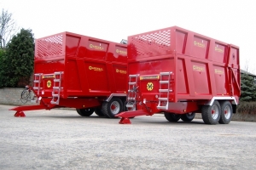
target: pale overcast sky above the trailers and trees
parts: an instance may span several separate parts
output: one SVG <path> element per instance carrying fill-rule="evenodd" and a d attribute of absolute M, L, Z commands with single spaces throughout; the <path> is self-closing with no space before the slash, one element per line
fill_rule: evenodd
<path fill-rule="evenodd" d="M 128 36 L 180 26 L 240 47 L 241 69 L 256 73 L 253 0 L 0 0 L 35 38 L 62 31 L 120 42 Z"/>

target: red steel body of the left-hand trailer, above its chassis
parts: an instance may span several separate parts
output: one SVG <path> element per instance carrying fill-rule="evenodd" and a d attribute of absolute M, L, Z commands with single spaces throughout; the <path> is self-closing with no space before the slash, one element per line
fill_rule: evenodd
<path fill-rule="evenodd" d="M 126 92 L 127 47 L 72 32 L 36 40 L 35 74 L 43 73 L 40 96 L 52 96 L 54 73 L 63 71 L 61 98 Z"/>

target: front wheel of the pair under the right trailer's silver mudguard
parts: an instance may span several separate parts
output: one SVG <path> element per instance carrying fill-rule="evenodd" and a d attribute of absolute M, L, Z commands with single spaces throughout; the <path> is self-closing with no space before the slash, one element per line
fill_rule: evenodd
<path fill-rule="evenodd" d="M 217 100 L 212 105 L 203 105 L 201 108 L 201 117 L 206 124 L 215 125 L 220 118 L 220 105 Z"/>

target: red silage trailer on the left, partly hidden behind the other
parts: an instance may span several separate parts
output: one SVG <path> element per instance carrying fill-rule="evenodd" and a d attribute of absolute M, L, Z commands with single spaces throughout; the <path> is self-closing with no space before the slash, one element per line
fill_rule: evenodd
<path fill-rule="evenodd" d="M 57 107 L 76 108 L 79 115 L 114 117 L 126 99 L 127 47 L 72 32 L 35 42 L 34 87 L 38 105 L 13 108 L 23 111 Z"/>

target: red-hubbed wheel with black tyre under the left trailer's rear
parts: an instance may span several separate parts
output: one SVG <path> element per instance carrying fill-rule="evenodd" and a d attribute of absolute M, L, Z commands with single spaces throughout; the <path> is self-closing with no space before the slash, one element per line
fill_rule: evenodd
<path fill-rule="evenodd" d="M 123 102 L 119 98 L 110 99 L 109 102 L 104 102 L 102 112 L 108 118 L 116 118 L 115 115 L 123 111 Z"/>

